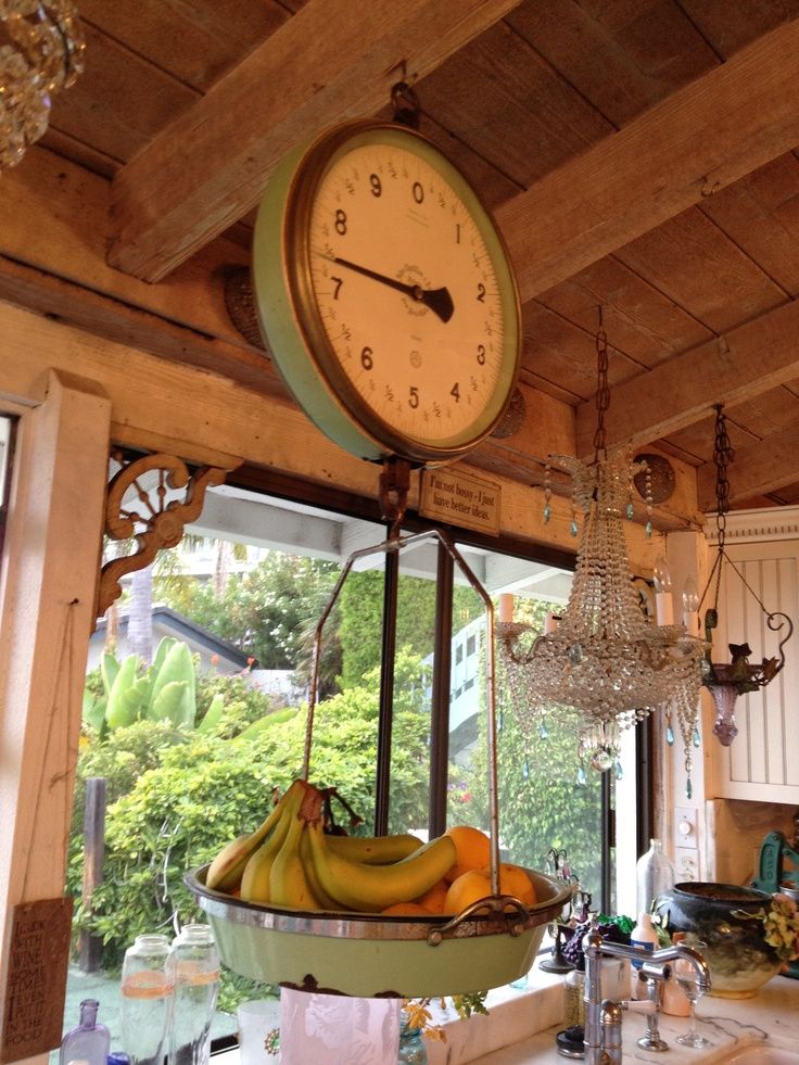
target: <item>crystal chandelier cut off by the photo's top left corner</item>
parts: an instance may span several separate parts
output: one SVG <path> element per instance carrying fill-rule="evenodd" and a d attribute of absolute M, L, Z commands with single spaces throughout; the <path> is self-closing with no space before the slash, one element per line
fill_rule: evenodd
<path fill-rule="evenodd" d="M 83 73 L 85 48 L 71 0 L 0 0 L 0 168 L 45 134 L 52 97 Z"/>

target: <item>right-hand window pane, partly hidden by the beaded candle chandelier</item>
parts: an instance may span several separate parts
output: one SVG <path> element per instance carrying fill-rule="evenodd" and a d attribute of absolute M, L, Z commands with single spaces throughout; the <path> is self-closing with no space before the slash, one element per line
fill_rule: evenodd
<path fill-rule="evenodd" d="M 469 561 L 473 561 L 470 558 Z M 506 592 L 503 573 L 512 567 L 515 620 L 532 633 L 543 631 L 547 612 L 559 612 L 568 598 L 571 574 L 518 559 L 486 555 L 477 563 L 487 574 L 498 616 L 498 594 Z M 494 576 L 494 580 L 492 580 Z M 489 762 L 485 692 L 485 619 L 479 596 L 467 625 L 454 634 L 466 654 L 453 672 L 449 791 L 451 823 L 489 826 Z M 480 608 L 480 612 L 478 612 Z M 546 870 L 550 851 L 566 851 L 572 872 L 596 904 L 601 885 L 601 781 L 581 769 L 573 721 L 549 715 L 534 726 L 524 711 L 523 688 L 511 692 L 502 643 L 496 647 L 497 797 L 499 844 L 504 860 Z M 580 774 L 580 781 L 583 776 Z"/>

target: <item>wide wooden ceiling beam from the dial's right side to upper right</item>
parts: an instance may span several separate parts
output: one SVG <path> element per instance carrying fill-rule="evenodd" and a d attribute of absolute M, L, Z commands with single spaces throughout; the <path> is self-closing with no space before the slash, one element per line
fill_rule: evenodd
<path fill-rule="evenodd" d="M 522 299 L 798 143 L 799 21 L 791 21 L 497 208 Z"/>

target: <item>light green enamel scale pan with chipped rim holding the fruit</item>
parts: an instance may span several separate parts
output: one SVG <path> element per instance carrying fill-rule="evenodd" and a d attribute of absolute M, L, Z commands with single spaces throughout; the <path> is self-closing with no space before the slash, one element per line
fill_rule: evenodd
<path fill-rule="evenodd" d="M 527 870 L 538 902 L 510 912 L 470 906 L 456 918 L 272 909 L 185 880 L 205 911 L 223 962 L 281 987 L 357 998 L 420 998 L 502 987 L 527 973 L 544 927 L 571 888 Z"/>

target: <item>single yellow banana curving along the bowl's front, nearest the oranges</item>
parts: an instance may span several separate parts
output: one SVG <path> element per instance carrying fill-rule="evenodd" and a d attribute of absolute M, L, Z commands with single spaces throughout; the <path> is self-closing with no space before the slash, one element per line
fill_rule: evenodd
<path fill-rule="evenodd" d="M 309 824 L 307 832 L 319 884 L 350 910 L 379 913 L 396 902 L 410 902 L 431 888 L 456 858 L 449 836 L 439 836 L 392 865 L 367 865 L 337 854 L 319 823 Z"/>

